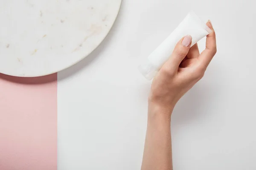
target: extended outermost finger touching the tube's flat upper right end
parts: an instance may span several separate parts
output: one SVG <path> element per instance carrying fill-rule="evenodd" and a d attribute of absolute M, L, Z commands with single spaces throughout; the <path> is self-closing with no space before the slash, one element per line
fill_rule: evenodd
<path fill-rule="evenodd" d="M 217 45 L 216 45 L 216 35 L 215 31 L 212 27 L 212 23 L 209 20 L 206 25 L 212 30 L 212 32 L 207 35 L 206 38 L 206 48 L 205 50 L 200 54 L 199 59 L 202 62 L 202 65 L 204 65 L 205 68 L 209 65 L 211 62 L 212 58 L 217 52 Z"/>

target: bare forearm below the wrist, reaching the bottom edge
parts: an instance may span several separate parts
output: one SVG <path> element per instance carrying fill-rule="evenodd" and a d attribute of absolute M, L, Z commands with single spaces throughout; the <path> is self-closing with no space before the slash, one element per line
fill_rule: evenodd
<path fill-rule="evenodd" d="M 155 112 L 155 113 L 152 113 Z M 149 110 L 142 170 L 172 170 L 171 116 Z"/>

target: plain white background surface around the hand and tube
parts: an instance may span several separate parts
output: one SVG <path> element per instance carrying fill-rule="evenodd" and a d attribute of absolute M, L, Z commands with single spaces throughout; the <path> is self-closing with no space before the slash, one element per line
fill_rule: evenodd
<path fill-rule="evenodd" d="M 102 44 L 58 73 L 58 170 L 140 169 L 151 82 L 137 66 L 191 10 L 218 52 L 172 115 L 174 170 L 256 169 L 255 2 L 123 0 Z"/>

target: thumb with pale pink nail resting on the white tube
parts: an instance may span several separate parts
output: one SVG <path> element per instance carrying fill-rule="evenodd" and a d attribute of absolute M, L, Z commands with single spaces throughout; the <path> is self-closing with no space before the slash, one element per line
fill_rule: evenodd
<path fill-rule="evenodd" d="M 180 63 L 188 54 L 191 42 L 192 37 L 190 35 L 186 35 L 185 37 L 183 37 L 175 46 L 172 52 L 172 56 L 164 64 L 164 67 L 169 68 L 169 70 L 173 72 L 176 72 L 179 68 Z"/>

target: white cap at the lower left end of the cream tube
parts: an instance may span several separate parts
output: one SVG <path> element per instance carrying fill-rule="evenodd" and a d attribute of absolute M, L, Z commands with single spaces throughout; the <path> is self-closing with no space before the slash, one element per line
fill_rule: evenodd
<path fill-rule="evenodd" d="M 157 74 L 157 69 L 150 63 L 145 62 L 138 67 L 140 73 L 148 80 L 153 79 Z"/>

